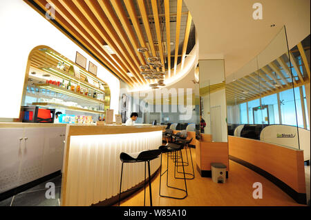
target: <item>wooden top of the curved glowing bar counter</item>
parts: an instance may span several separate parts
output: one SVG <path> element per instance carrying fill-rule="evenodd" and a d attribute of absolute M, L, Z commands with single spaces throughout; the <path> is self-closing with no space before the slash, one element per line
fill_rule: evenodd
<path fill-rule="evenodd" d="M 76 135 L 96 135 L 96 134 L 127 134 L 140 132 L 153 132 L 163 130 L 165 126 L 151 125 L 106 125 L 106 126 L 69 126 L 68 136 Z M 68 129 L 68 128 L 67 128 Z"/>

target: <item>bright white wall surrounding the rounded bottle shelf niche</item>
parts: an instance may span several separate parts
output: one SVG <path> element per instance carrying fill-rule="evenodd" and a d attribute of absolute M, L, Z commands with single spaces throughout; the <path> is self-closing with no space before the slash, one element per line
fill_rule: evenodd
<path fill-rule="evenodd" d="M 118 110 L 120 81 L 24 1 L 0 1 L 0 118 L 18 118 L 30 51 L 53 48 L 71 61 L 76 51 L 97 66 L 97 77 L 111 89 L 111 108 Z M 86 67 L 88 68 L 88 67 Z"/>

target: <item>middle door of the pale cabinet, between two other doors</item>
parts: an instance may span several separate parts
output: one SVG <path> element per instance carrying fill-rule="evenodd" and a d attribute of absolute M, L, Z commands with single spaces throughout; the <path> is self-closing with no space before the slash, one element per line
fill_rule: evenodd
<path fill-rule="evenodd" d="M 23 157 L 21 159 L 19 185 L 42 177 L 44 129 L 45 128 L 24 128 L 24 147 Z"/>

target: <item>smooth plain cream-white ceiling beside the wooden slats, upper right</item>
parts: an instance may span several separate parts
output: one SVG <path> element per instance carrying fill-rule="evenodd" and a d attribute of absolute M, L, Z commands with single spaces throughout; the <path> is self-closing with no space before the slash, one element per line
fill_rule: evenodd
<path fill-rule="evenodd" d="M 196 26 L 199 59 L 225 59 L 226 76 L 259 54 L 284 25 L 290 48 L 310 34 L 310 0 L 184 2 Z M 256 2 L 263 5 L 262 20 L 252 17 Z"/>

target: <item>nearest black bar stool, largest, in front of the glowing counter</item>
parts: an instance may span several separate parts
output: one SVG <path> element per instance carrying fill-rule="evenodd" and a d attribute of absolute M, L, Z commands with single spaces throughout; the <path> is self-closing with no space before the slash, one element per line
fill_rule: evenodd
<path fill-rule="evenodd" d="M 119 206 L 120 206 L 120 199 L 121 199 L 123 164 L 124 163 L 139 163 L 139 162 L 144 162 L 144 206 L 145 206 L 145 200 L 146 200 L 146 162 L 148 162 L 150 206 L 152 206 L 150 161 L 159 157 L 160 154 L 161 154 L 161 150 L 159 149 L 144 150 L 141 152 L 133 152 L 133 153 L 122 152 L 120 154 L 120 160 L 122 161 L 122 168 L 121 168 L 121 179 L 120 179 Z M 135 189 L 137 188 L 133 188 L 130 190 L 135 190 Z M 127 191 L 129 190 L 126 190 L 125 192 Z"/>

